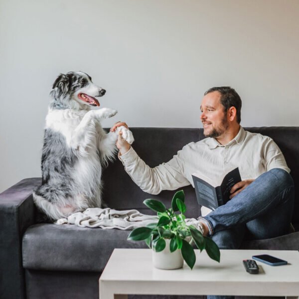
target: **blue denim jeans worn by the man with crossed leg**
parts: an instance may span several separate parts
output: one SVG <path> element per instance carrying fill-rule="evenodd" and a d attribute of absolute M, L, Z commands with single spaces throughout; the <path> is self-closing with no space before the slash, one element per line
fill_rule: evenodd
<path fill-rule="evenodd" d="M 292 176 L 281 168 L 274 168 L 260 175 L 225 205 L 199 219 L 208 224 L 210 237 L 219 248 L 238 249 L 245 233 L 255 240 L 289 233 L 294 195 Z"/>

